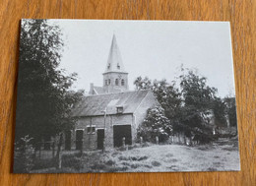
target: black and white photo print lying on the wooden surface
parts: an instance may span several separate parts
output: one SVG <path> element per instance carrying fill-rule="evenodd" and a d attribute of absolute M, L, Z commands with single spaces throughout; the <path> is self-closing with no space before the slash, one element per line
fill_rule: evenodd
<path fill-rule="evenodd" d="M 239 171 L 230 34 L 22 20 L 13 172 Z"/>

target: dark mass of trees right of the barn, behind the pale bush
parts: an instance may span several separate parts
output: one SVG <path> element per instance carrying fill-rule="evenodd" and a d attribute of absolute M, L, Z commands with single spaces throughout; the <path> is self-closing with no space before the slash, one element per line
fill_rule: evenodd
<path fill-rule="evenodd" d="M 177 82 L 178 88 L 175 83 L 152 81 L 148 77 L 138 77 L 134 82 L 136 90 L 152 90 L 171 123 L 173 133 L 210 142 L 214 139 L 211 137 L 214 125 L 226 126 L 226 113 L 235 124 L 235 101 L 218 97 L 218 90 L 207 85 L 206 77 L 181 68 Z"/>

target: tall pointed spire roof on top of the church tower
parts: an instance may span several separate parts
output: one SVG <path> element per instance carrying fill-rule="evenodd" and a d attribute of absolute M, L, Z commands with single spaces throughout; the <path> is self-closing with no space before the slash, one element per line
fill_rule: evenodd
<path fill-rule="evenodd" d="M 109 72 L 127 73 L 124 69 L 124 65 L 123 65 L 121 54 L 117 45 L 115 34 L 113 34 L 104 73 L 109 73 Z"/>

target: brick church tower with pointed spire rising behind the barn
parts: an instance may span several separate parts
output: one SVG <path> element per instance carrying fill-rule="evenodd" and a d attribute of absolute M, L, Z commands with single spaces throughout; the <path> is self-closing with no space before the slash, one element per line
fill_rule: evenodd
<path fill-rule="evenodd" d="M 128 91 L 128 73 L 124 69 L 114 34 L 103 73 L 103 90 L 105 93 Z"/>

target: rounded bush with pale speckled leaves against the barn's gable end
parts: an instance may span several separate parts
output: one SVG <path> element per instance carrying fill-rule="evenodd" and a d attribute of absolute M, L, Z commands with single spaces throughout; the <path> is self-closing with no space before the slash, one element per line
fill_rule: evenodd
<path fill-rule="evenodd" d="M 148 142 L 156 142 L 158 136 L 160 142 L 164 142 L 171 132 L 168 118 L 164 116 L 163 109 L 157 106 L 148 110 L 145 120 L 138 128 L 138 137 L 143 137 Z"/>

